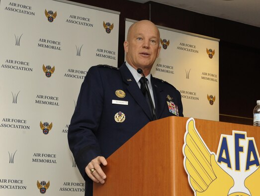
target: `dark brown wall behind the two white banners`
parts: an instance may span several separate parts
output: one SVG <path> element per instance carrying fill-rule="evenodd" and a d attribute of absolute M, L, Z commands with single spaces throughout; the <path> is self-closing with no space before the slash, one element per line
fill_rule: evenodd
<path fill-rule="evenodd" d="M 215 37 L 219 42 L 219 120 L 253 124 L 260 99 L 260 28 L 149 1 L 72 0 L 120 11 L 118 66 L 124 61 L 125 18 Z M 185 105 L 184 105 L 185 106 Z"/>

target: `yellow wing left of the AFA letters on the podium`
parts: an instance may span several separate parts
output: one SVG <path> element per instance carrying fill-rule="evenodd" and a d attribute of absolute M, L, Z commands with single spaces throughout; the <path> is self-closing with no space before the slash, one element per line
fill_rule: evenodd
<path fill-rule="evenodd" d="M 186 124 L 183 145 L 184 168 L 196 196 L 228 196 L 234 180 L 215 160 L 190 118 Z"/>

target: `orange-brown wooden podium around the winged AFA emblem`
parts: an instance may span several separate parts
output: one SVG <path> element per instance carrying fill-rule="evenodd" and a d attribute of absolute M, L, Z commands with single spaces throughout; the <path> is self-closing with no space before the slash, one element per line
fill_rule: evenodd
<path fill-rule="evenodd" d="M 107 158 L 105 184 L 93 186 L 93 196 L 194 196 L 183 167 L 186 117 L 149 122 Z M 212 152 L 221 134 L 246 131 L 260 147 L 260 127 L 195 119 L 196 128 Z"/>

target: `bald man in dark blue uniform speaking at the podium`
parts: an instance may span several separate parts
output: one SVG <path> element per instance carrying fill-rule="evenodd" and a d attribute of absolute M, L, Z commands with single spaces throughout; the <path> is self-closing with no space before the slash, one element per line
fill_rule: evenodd
<path fill-rule="evenodd" d="M 124 50 L 126 62 L 120 68 L 98 65 L 88 70 L 69 126 L 69 146 L 86 180 L 85 196 L 92 196 L 92 182 L 105 183 L 100 165 L 109 164 L 106 158 L 149 121 L 183 116 L 180 93 L 150 74 L 161 50 L 155 24 L 149 20 L 132 24 Z M 140 90 L 138 68 L 147 79 L 150 103 L 148 92 Z"/>

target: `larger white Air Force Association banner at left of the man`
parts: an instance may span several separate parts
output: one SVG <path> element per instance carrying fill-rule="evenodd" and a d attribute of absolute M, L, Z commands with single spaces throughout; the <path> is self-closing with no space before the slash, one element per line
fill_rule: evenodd
<path fill-rule="evenodd" d="M 0 195 L 83 196 L 67 132 L 89 67 L 117 66 L 119 12 L 0 0 Z"/>

